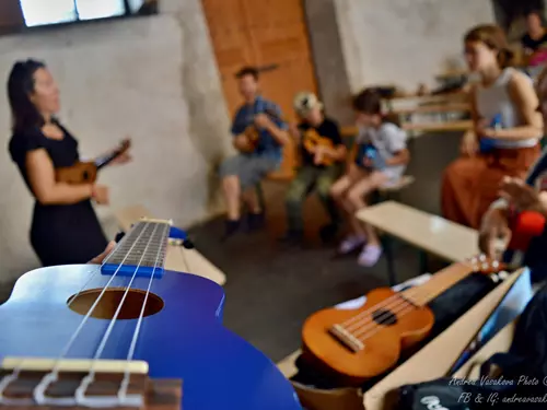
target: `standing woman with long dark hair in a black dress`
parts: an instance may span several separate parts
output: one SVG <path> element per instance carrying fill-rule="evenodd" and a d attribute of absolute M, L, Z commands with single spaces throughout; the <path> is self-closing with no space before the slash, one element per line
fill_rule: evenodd
<path fill-rule="evenodd" d="M 108 188 L 56 181 L 56 168 L 79 161 L 78 141 L 55 118 L 59 90 L 44 63 L 16 62 L 8 97 L 13 117 L 9 151 L 35 198 L 31 244 L 44 266 L 85 263 L 108 243 L 91 203 L 108 203 Z"/>

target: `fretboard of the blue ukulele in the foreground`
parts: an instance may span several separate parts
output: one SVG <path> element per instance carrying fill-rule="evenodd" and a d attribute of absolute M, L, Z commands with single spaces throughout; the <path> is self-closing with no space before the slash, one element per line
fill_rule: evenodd
<path fill-rule="evenodd" d="M 103 274 L 160 278 L 163 276 L 170 225 L 163 222 L 138 222 L 107 257 Z"/>

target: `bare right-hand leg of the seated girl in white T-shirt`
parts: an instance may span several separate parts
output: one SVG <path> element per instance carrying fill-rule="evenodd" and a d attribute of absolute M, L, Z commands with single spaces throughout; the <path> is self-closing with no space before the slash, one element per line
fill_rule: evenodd
<path fill-rule="evenodd" d="M 380 245 L 380 239 L 371 225 L 362 223 L 357 219 L 356 212 L 366 207 L 364 197 L 374 189 L 381 187 L 387 180 L 388 176 L 385 174 L 381 172 L 373 172 L 366 178 L 363 178 L 354 184 L 348 192 L 348 201 L 354 209 L 354 211 L 350 214 L 351 225 L 356 229 L 359 226 L 360 232 L 366 235 L 368 242 L 371 245 Z"/>

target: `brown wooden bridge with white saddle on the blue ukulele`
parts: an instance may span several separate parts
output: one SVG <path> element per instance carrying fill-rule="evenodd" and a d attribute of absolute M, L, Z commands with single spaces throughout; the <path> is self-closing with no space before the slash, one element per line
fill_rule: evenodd
<path fill-rule="evenodd" d="M 123 360 L 7 358 L 0 408 L 181 408 L 182 380 L 150 380 L 148 363 Z"/>

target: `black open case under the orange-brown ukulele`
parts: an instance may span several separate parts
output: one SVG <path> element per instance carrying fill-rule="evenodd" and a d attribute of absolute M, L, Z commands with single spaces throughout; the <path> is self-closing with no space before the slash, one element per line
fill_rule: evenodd
<path fill-rule="evenodd" d="M 465 314 L 469 308 L 477 304 L 484 296 L 486 296 L 496 283 L 485 274 L 473 273 L 463 279 L 451 289 L 439 295 L 431 301 L 428 306 L 431 308 L 435 316 L 434 326 L 430 335 L 418 343 L 414 349 L 403 352 L 396 366 L 400 365 L 409 359 L 415 352 L 424 347 L 429 341 L 439 336 L 456 319 Z M 310 388 L 330 390 L 345 388 L 347 386 L 339 385 L 328 377 L 326 374 L 318 373 L 313 366 L 306 363 L 305 356 L 300 355 L 296 359 L 295 366 L 298 373 L 291 377 L 292 382 L 304 385 Z M 362 390 L 365 391 L 384 378 L 389 372 L 379 375 L 377 377 L 369 379 L 363 386 Z"/>

